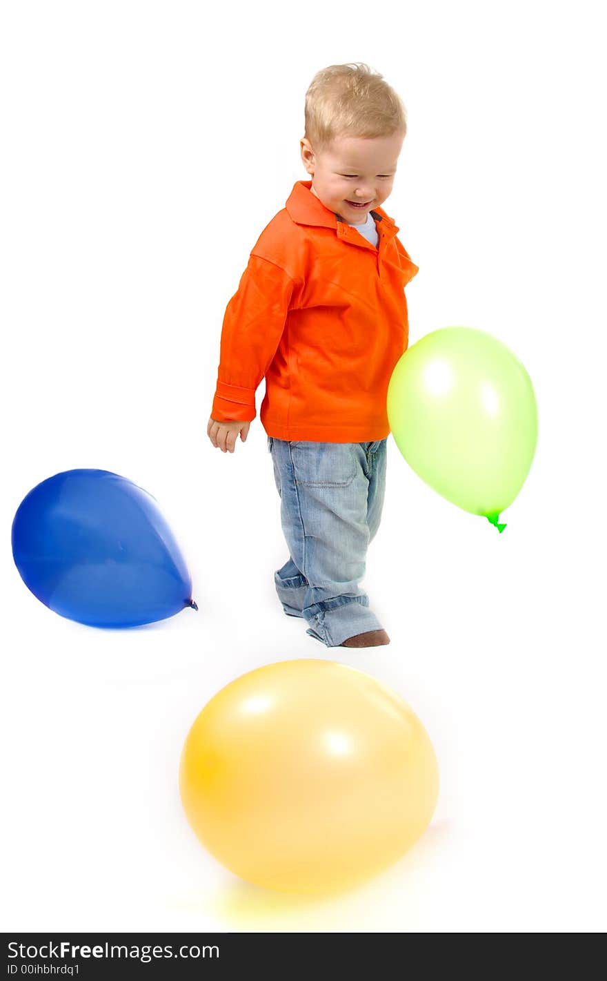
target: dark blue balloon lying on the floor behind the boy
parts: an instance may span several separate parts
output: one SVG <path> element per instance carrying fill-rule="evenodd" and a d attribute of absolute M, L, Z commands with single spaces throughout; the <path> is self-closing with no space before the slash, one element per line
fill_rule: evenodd
<path fill-rule="evenodd" d="M 30 490 L 13 522 L 13 556 L 28 590 L 91 627 L 136 627 L 197 609 L 155 499 L 107 470 L 67 470 Z"/>

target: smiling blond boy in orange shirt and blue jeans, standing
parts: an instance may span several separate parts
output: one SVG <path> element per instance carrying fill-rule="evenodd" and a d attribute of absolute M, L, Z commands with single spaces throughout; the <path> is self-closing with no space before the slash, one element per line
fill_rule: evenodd
<path fill-rule="evenodd" d="M 329 647 L 389 644 L 359 588 L 378 527 L 386 393 L 408 342 L 404 286 L 418 272 L 380 208 L 407 125 L 367 65 L 331 65 L 306 93 L 297 181 L 251 250 L 226 309 L 207 433 L 233 452 L 255 418 L 268 435 L 289 559 L 289 616 Z"/>

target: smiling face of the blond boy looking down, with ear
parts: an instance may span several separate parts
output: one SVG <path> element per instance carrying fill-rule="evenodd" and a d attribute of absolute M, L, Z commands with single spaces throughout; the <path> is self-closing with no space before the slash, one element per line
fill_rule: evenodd
<path fill-rule="evenodd" d="M 304 137 L 301 159 L 312 177 L 312 193 L 346 222 L 363 225 L 392 190 L 404 138 L 402 132 L 372 138 L 337 136 L 329 149 L 316 153 Z"/>

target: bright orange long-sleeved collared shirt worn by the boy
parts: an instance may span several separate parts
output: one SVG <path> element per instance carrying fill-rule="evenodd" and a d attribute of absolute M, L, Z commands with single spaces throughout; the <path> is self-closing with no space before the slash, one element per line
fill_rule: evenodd
<path fill-rule="evenodd" d="M 404 287 L 418 272 L 382 208 L 379 246 L 296 181 L 251 250 L 226 308 L 211 416 L 268 436 L 366 442 L 390 432 L 386 395 L 407 347 Z"/>

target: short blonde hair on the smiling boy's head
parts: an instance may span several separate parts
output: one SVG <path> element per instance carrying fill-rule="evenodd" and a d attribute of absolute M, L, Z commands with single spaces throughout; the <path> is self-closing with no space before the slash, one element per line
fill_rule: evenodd
<path fill-rule="evenodd" d="M 335 136 L 372 138 L 396 131 L 407 132 L 403 101 L 369 65 L 329 65 L 310 82 L 304 137 L 317 152 L 328 149 Z"/>

